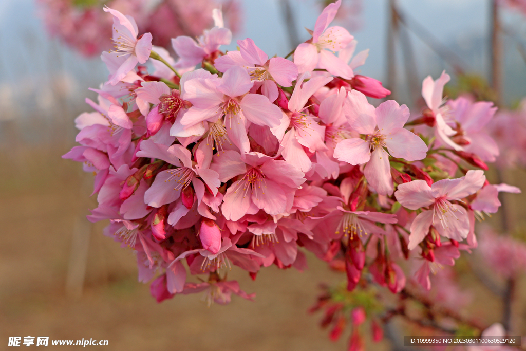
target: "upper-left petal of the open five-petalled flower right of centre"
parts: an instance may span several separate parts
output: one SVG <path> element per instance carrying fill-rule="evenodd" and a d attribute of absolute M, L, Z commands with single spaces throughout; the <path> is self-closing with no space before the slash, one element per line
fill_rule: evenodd
<path fill-rule="evenodd" d="M 343 111 L 352 129 L 360 134 L 375 133 L 375 107 L 369 104 L 365 95 L 354 89 L 350 91 Z"/>

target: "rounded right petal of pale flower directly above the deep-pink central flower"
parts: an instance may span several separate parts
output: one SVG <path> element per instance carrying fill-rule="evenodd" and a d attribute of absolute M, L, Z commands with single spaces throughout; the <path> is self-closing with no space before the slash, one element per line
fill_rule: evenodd
<path fill-rule="evenodd" d="M 260 126 L 275 127 L 280 124 L 281 109 L 270 103 L 268 98 L 259 94 L 247 94 L 241 100 L 243 116 Z"/>

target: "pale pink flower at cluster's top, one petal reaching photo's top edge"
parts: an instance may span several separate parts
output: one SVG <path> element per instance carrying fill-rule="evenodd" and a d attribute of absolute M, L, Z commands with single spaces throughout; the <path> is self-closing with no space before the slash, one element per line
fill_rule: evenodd
<path fill-rule="evenodd" d="M 312 38 L 299 44 L 294 52 L 294 63 L 299 73 L 312 72 L 315 68 L 326 69 L 332 75 L 350 79 L 354 76 L 351 67 L 334 52 L 345 48 L 353 39 L 347 29 L 333 26 L 327 28 L 336 16 L 341 0 L 329 4 L 316 20 Z"/>

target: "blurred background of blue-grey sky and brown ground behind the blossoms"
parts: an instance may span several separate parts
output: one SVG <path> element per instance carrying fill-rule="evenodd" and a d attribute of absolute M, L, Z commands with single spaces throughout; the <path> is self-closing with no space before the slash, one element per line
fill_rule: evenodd
<path fill-rule="evenodd" d="M 343 279 L 312 255 L 306 272 L 270 267 L 254 282 L 232 269 L 229 277 L 248 293 L 256 292 L 256 302 L 234 298 L 228 307 L 207 308 L 200 296 L 188 295 L 157 304 L 148 285 L 137 282 L 136 258 L 102 235 L 106 223 L 87 222 L 88 209 L 96 207 L 96 198 L 89 197 L 93 177 L 60 156 L 75 145 L 74 118 L 90 111 L 85 97 L 96 97 L 88 87 L 98 87 L 107 71 L 97 54 L 66 45 L 56 28 L 55 35 L 50 33 L 63 19 L 46 13 L 45 6 L 59 2 L 0 1 L 0 345 L 9 336 L 49 336 L 107 339 L 106 348 L 112 350 L 346 349 L 346 338 L 331 342 L 327 330 L 319 328 L 320 316 L 307 314 L 320 282 Z M 400 104 L 418 111 L 422 79 L 429 74 L 436 79 L 446 69 L 453 78 L 451 94 L 466 85 L 480 95 L 488 89 L 502 108 L 514 108 L 526 96 L 526 13 L 520 5 L 501 6 L 499 35 L 492 41 L 492 4 L 343 0 L 335 23 L 355 36 L 358 51 L 370 49 L 359 74 L 382 81 L 393 93 L 389 98 Z M 310 37 L 304 27 L 313 28 L 325 5 L 315 0 L 229 2 L 227 25 L 236 30 L 227 49 L 235 49 L 236 39 L 250 37 L 269 56 L 285 56 Z M 494 45 L 500 46 L 496 74 Z M 495 84 L 498 89 L 488 88 Z M 526 188 L 520 167 L 500 174 L 490 169 L 489 177 Z M 524 195 L 501 200 L 506 214 L 489 223 L 521 233 Z M 480 278 L 484 273 L 473 273 L 473 265 L 476 258 L 463 257 L 456 267 L 461 288 L 471 294 L 466 312 L 489 325 L 502 321 L 511 308 L 514 334 L 526 334 L 524 279 L 515 280 L 507 306 L 502 294 L 488 288 L 493 283 Z M 507 286 L 500 278 L 497 284 Z M 403 349 L 396 340 L 405 334 L 402 330 L 387 330 L 382 343 L 369 346 Z"/>

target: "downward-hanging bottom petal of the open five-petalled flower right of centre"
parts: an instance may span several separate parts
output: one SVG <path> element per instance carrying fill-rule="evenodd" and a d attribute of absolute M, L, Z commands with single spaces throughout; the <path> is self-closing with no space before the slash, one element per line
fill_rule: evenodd
<path fill-rule="evenodd" d="M 391 196 L 394 190 L 389 154 L 383 148 L 377 148 L 365 165 L 363 175 L 379 195 Z"/>

